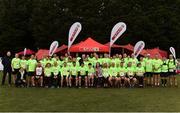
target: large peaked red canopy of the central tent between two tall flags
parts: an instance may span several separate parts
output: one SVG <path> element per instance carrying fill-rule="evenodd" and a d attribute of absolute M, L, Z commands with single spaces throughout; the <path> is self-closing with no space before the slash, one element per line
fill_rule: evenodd
<path fill-rule="evenodd" d="M 109 52 L 109 47 L 99 42 L 96 42 L 92 38 L 87 38 L 85 41 L 79 44 L 72 45 L 69 49 L 70 52 Z"/>

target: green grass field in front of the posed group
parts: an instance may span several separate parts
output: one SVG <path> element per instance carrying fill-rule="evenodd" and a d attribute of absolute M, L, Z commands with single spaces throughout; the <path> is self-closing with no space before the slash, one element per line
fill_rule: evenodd
<path fill-rule="evenodd" d="M 180 111 L 179 95 L 180 88 L 45 89 L 0 86 L 0 111 L 176 112 Z"/>

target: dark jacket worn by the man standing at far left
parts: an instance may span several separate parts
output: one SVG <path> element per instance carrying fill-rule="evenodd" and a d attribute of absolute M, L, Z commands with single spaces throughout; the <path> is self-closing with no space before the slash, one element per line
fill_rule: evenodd
<path fill-rule="evenodd" d="M 2 58 L 2 64 L 4 66 L 4 71 L 8 71 L 11 72 L 12 68 L 11 68 L 11 57 L 5 56 Z"/>

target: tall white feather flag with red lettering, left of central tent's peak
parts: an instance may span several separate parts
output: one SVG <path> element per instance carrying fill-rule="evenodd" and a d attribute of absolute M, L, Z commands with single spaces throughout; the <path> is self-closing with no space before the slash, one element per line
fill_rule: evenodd
<path fill-rule="evenodd" d="M 68 50 L 82 29 L 81 23 L 74 23 L 69 30 Z"/>

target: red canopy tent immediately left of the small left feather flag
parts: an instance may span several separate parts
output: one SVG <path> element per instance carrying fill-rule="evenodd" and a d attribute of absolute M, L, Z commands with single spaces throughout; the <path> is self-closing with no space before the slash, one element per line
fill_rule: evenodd
<path fill-rule="evenodd" d="M 49 55 L 49 50 L 47 49 L 39 49 L 38 52 L 36 53 L 36 58 L 38 60 L 42 59 L 45 56 Z"/>

